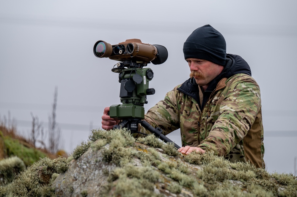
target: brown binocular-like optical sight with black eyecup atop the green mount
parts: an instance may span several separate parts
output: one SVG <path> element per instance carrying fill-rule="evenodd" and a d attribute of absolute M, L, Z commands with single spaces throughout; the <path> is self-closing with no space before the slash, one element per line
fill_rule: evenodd
<path fill-rule="evenodd" d="M 164 46 L 145 44 L 140 39 L 128 39 L 116 45 L 99 40 L 94 45 L 94 55 L 120 62 L 131 60 L 136 63 L 162 64 L 167 60 L 168 52 Z"/>

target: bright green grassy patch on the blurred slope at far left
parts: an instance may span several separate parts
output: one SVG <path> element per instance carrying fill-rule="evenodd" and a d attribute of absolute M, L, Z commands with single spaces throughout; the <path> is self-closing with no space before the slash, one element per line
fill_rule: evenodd
<path fill-rule="evenodd" d="M 39 158 L 46 157 L 45 153 L 35 149 L 28 148 L 21 144 L 18 140 L 12 139 L 8 136 L 4 138 L 4 145 L 6 147 L 5 152 L 8 157 L 17 156 L 24 161 L 25 165 L 32 165 L 34 162 L 38 161 Z"/>

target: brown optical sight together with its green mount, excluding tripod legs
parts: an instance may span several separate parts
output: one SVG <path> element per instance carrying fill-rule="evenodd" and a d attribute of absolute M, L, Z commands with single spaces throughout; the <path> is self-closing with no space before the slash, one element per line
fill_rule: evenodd
<path fill-rule="evenodd" d="M 164 63 L 168 57 L 167 49 L 161 45 L 142 43 L 139 39 L 128 39 L 116 45 L 99 40 L 93 51 L 96 57 L 108 57 L 121 62 L 111 71 L 119 73 L 122 104 L 111 105 L 109 116 L 118 119 L 144 119 L 146 95 L 155 94 L 155 89 L 149 88 L 149 81 L 154 76 L 152 69 L 143 67 L 150 62 Z"/>

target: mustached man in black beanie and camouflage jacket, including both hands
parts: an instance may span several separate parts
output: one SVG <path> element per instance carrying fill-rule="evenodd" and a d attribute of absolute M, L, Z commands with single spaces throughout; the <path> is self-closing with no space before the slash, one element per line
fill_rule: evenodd
<path fill-rule="evenodd" d="M 164 135 L 180 128 L 183 154 L 210 149 L 231 162 L 265 168 L 260 89 L 249 65 L 226 53 L 224 37 L 210 25 L 193 31 L 183 53 L 190 79 L 148 110 L 145 121 Z M 106 130 L 119 122 L 108 111 L 102 116 Z"/>

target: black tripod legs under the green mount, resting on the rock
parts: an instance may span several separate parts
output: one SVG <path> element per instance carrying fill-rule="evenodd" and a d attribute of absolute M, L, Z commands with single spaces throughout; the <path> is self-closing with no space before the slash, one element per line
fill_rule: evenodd
<path fill-rule="evenodd" d="M 153 126 L 151 126 L 149 123 L 147 123 L 144 120 L 140 120 L 137 118 L 124 119 L 119 125 L 115 125 L 114 129 L 127 128 L 128 130 L 131 131 L 131 133 L 140 133 L 140 134 L 147 135 L 145 133 L 138 132 L 138 124 L 139 123 L 141 124 L 141 126 L 143 126 L 145 129 L 147 129 L 148 131 L 153 133 L 159 139 L 163 140 L 165 143 L 171 142 L 174 144 L 175 148 L 177 148 L 177 149 L 180 148 L 177 144 L 175 144 L 168 137 L 166 137 L 164 134 L 162 134 L 163 130 L 161 128 L 159 128 L 159 127 L 154 128 Z"/>

